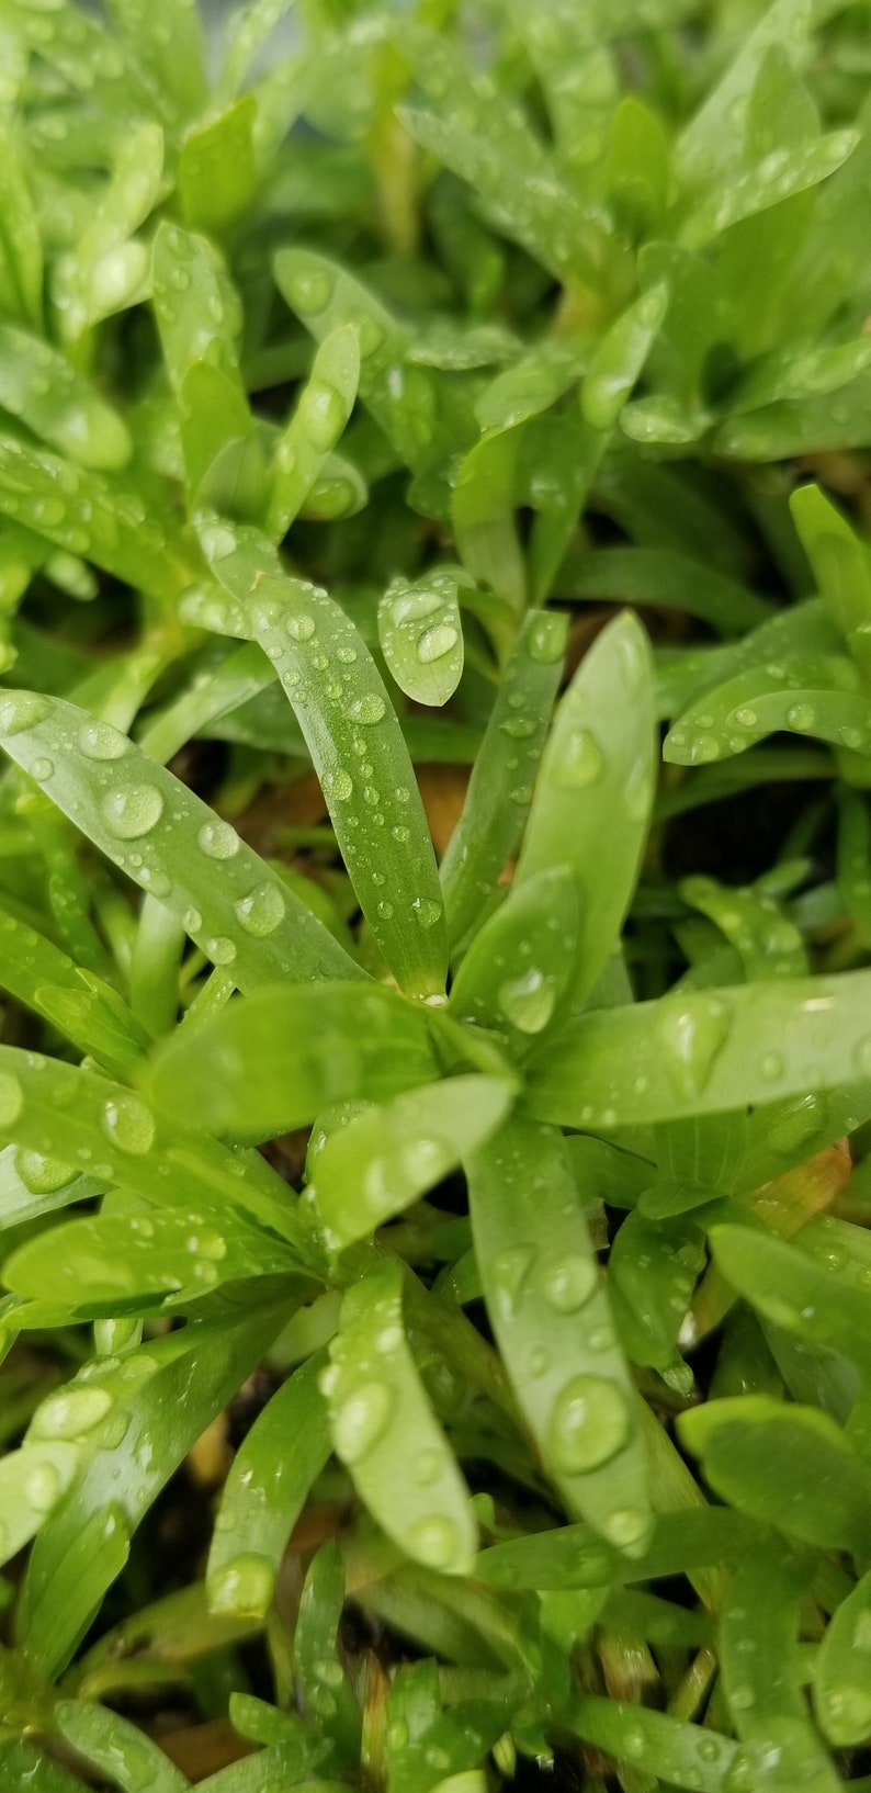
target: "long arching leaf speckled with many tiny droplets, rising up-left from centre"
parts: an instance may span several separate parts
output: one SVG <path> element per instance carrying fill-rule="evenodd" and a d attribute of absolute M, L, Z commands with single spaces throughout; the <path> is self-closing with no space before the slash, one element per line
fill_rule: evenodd
<path fill-rule="evenodd" d="M 360 907 L 409 995 L 444 990 L 439 875 L 409 751 L 366 642 L 326 592 L 289 577 L 254 529 L 201 518 L 215 577 L 276 667 Z"/>

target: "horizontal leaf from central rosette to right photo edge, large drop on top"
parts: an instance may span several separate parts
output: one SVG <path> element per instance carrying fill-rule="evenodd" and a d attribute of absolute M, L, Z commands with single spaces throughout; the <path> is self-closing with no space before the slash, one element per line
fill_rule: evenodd
<path fill-rule="evenodd" d="M 643 1126 L 867 1076 L 871 974 L 783 979 L 602 1009 L 536 1049 L 527 1103 L 563 1126 Z"/>

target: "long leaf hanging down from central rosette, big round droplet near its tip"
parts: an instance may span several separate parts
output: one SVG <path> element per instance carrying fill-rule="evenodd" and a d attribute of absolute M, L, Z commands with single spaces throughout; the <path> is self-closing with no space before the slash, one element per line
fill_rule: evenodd
<path fill-rule="evenodd" d="M 573 1511 L 636 1555 L 651 1535 L 636 1395 L 563 1142 L 509 1121 L 468 1174 L 487 1314 L 545 1467 Z"/>

